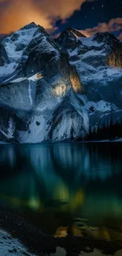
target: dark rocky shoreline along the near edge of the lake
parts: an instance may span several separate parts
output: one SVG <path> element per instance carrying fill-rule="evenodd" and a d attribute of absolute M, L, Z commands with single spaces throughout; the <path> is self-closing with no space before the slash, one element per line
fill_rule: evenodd
<path fill-rule="evenodd" d="M 57 238 L 49 236 L 46 232 L 42 232 L 39 228 L 35 227 L 34 224 L 24 219 L 24 217 L 4 209 L 0 210 L 0 228 L 1 231 L 3 230 L 9 234 L 11 239 L 18 239 L 19 243 L 28 248 L 27 252 L 24 251 L 21 255 L 58 255 L 55 254 L 57 247 L 63 248 L 66 252 L 66 254 L 60 254 L 59 256 L 91 255 L 94 250 L 98 250 L 102 254 L 116 255 L 116 252 L 122 249 L 122 242 L 119 240 L 112 242 L 93 239 L 90 236 L 66 236 Z M 3 240 L 4 239 L 1 241 L 2 246 Z M 20 255 L 19 253 L 17 254 L 18 248 L 15 248 L 15 250 L 15 255 Z M 15 250 L 11 251 L 11 255 L 15 253 Z"/>

